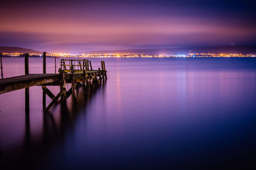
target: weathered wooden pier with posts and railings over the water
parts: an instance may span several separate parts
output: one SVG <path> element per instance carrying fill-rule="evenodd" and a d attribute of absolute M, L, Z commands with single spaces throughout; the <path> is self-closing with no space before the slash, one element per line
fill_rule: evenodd
<path fill-rule="evenodd" d="M 12 92 L 14 90 L 26 89 L 26 102 L 29 103 L 29 87 L 42 86 L 44 111 L 61 101 L 66 101 L 69 96 L 76 99 L 76 89 L 86 87 L 88 89 L 97 88 L 102 81 L 107 79 L 105 62 L 101 61 L 101 69 L 93 70 L 92 62 L 87 59 L 61 59 L 59 73 L 46 74 L 46 53 L 43 59 L 43 74 L 29 74 L 29 54 L 25 56 L 25 74 L 0 80 L 0 94 Z M 56 68 L 55 68 L 56 69 Z M 67 90 L 67 83 L 71 88 Z M 60 92 L 54 96 L 47 86 L 60 86 Z M 52 102 L 45 106 L 45 95 L 52 99 Z M 27 103 L 26 103 L 27 107 Z M 27 109 L 26 109 L 27 112 Z"/>

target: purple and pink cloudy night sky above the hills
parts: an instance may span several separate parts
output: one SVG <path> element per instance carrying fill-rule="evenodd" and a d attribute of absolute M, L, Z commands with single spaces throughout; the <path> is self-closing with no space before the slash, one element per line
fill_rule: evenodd
<path fill-rule="evenodd" d="M 250 1 L 1 1 L 0 46 L 87 52 L 256 45 Z"/>

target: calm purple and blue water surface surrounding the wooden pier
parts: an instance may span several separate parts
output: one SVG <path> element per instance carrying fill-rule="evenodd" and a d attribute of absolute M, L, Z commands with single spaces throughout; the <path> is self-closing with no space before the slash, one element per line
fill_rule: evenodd
<path fill-rule="evenodd" d="M 92 59 L 96 69 L 102 59 Z M 253 168 L 256 59 L 104 59 L 108 80 L 50 113 L 41 87 L 0 95 L 0 159 L 31 169 Z M 4 58 L 4 77 L 24 58 Z M 29 59 L 42 73 L 42 59 Z M 54 59 L 47 58 L 47 73 Z M 60 87 L 49 87 L 56 95 Z M 47 98 L 47 104 L 51 99 Z"/>

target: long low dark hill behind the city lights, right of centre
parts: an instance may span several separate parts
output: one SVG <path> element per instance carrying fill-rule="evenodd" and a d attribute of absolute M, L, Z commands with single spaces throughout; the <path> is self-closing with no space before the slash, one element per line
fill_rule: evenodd
<path fill-rule="evenodd" d="M 256 46 L 205 46 L 205 47 L 179 47 L 163 49 L 138 50 L 105 50 L 83 53 L 144 53 L 144 54 L 178 54 L 178 53 L 256 53 Z"/>

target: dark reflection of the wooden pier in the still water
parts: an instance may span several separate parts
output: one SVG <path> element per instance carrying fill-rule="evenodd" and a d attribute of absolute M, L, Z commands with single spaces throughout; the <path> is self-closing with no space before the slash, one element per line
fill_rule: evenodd
<path fill-rule="evenodd" d="M 86 114 L 86 104 L 97 93 L 104 93 L 106 80 L 99 83 L 99 86 L 90 88 L 81 86 L 76 89 L 76 98 L 70 97 L 70 101 L 63 100 L 54 107 L 59 107 L 59 113 L 51 111 L 42 112 L 42 133 L 31 138 L 31 121 L 29 117 L 29 88 L 25 89 L 25 129 L 24 140 L 21 145 L 17 145 L 12 150 L 2 150 L 0 148 L 1 166 L 2 168 L 26 167 L 28 169 L 40 168 L 38 164 L 44 162 L 45 155 L 49 154 L 49 149 L 56 143 L 60 145 L 65 143 L 65 134 L 67 131 L 72 132 L 77 117 Z M 43 95 L 44 96 L 44 95 Z M 45 98 L 42 100 L 42 107 L 45 107 Z M 54 111 L 56 112 L 56 111 Z M 57 115 L 58 114 L 58 115 Z"/>

